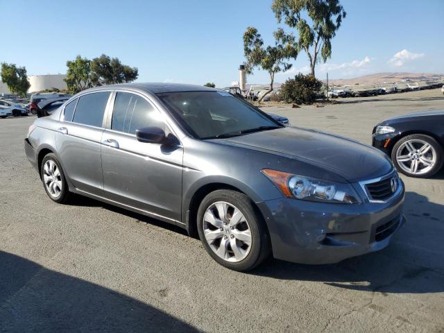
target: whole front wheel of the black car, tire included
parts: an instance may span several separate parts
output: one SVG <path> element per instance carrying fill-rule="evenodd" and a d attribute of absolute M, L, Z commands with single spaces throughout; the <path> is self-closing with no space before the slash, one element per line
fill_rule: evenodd
<path fill-rule="evenodd" d="M 393 146 L 391 160 L 404 175 L 427 178 L 443 167 L 443 148 L 428 135 L 407 135 Z M 413 164 L 415 160 L 416 167 Z"/>

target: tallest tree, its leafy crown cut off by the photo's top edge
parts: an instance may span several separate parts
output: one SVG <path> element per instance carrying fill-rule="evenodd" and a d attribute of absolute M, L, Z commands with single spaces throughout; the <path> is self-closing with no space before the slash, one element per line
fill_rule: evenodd
<path fill-rule="evenodd" d="M 298 51 L 307 53 L 314 76 L 320 59 L 325 62 L 332 56 L 332 38 L 346 15 L 339 0 L 273 0 L 271 9 L 279 23 L 284 19 L 298 30 Z"/>

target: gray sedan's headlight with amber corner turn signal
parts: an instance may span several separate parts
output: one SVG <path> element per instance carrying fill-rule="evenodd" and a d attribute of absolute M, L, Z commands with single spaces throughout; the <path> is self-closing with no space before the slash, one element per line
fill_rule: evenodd
<path fill-rule="evenodd" d="M 323 203 L 360 203 L 359 197 L 350 184 L 309 178 L 271 169 L 262 169 L 262 173 L 287 198 Z"/>

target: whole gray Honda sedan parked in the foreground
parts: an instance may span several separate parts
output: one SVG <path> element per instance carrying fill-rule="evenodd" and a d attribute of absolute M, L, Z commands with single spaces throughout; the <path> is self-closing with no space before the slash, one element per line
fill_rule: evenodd
<path fill-rule="evenodd" d="M 286 127 L 219 89 L 88 89 L 37 119 L 24 145 L 57 203 L 81 194 L 173 223 L 237 271 L 269 255 L 370 253 L 404 222 L 404 185 L 383 153 Z"/>

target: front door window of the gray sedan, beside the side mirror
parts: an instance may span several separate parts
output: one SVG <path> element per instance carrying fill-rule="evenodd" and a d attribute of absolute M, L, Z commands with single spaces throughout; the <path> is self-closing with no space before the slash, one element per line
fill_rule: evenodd
<path fill-rule="evenodd" d="M 135 134 L 138 128 L 157 126 L 164 129 L 161 114 L 146 99 L 127 92 L 117 92 L 111 129 Z"/>

